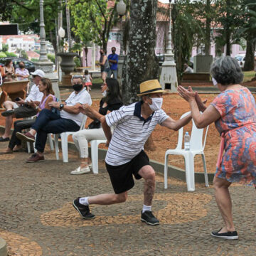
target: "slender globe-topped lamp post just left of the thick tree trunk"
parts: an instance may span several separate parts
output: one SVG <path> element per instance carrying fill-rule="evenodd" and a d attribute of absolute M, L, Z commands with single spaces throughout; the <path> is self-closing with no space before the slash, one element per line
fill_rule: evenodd
<path fill-rule="evenodd" d="M 120 0 L 117 4 L 117 14 L 120 17 L 120 26 L 121 26 L 120 55 L 118 58 L 118 73 L 117 73 L 117 80 L 118 80 L 120 86 L 122 86 L 122 68 L 124 65 L 124 43 L 123 43 L 122 16 L 124 16 L 125 11 L 126 11 L 126 4 L 124 4 L 123 0 Z"/>

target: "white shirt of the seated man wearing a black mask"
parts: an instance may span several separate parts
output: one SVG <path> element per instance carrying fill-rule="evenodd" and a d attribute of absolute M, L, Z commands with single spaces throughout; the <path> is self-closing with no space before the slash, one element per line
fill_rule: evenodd
<path fill-rule="evenodd" d="M 72 92 L 68 99 L 65 101 L 66 106 L 75 106 L 77 103 L 92 105 L 92 98 L 90 97 L 90 94 L 87 92 L 85 88 L 83 88 L 80 92 L 75 93 Z M 65 110 L 60 111 L 60 117 L 65 119 L 71 119 L 74 122 L 76 122 L 79 126 L 82 124 L 82 118 L 84 117 L 84 114 L 71 114 L 66 112 Z"/>

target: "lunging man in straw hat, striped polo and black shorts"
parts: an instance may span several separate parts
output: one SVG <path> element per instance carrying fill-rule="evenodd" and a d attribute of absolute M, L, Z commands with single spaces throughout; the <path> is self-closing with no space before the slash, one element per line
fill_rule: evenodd
<path fill-rule="evenodd" d="M 105 161 L 114 193 L 76 198 L 73 206 L 82 218 L 95 218 L 90 213 L 90 204 L 111 205 L 125 202 L 128 191 L 134 186 L 134 176 L 136 179 L 145 180 L 141 220 L 149 225 L 159 225 L 159 220 L 151 212 L 155 172 L 143 150 L 144 144 L 156 124 L 177 131 L 191 120 L 191 115 L 188 115 L 175 121 L 161 110 L 163 92 L 165 91 L 161 89 L 158 80 L 142 82 L 138 95 L 142 97 L 141 101 L 120 107 L 105 117 L 95 113 L 95 117 L 102 122 L 109 145 Z M 115 126 L 113 134 L 110 130 L 112 126 Z"/>

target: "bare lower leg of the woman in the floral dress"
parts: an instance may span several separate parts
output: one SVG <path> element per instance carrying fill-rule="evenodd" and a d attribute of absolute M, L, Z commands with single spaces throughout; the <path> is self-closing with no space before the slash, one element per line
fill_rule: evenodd
<path fill-rule="evenodd" d="M 224 178 L 214 177 L 213 179 L 215 200 L 225 223 L 225 227 L 222 228 L 219 233 L 235 231 L 232 217 L 232 201 L 228 191 L 230 184 L 231 183 Z"/>

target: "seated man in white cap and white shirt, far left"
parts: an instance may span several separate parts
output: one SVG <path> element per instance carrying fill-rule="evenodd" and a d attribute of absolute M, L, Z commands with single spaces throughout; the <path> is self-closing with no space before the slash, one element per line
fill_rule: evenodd
<path fill-rule="evenodd" d="M 4 102 L 4 107 L 6 111 L 2 112 L 1 115 L 6 117 L 6 125 L 4 135 L 0 137 L 0 142 L 8 142 L 11 134 L 11 125 L 13 123 L 13 117 L 23 118 L 23 117 L 32 117 L 37 114 L 36 110 L 34 110 L 31 106 L 26 104 L 26 102 L 33 101 L 36 105 L 42 100 L 43 92 L 40 92 L 38 89 L 39 82 L 41 78 L 44 78 L 45 73 L 43 70 L 36 70 L 33 75 L 33 82 L 35 83 L 31 87 L 31 91 L 29 92 L 28 97 L 25 100 L 17 99 L 16 102 L 12 102 L 10 100 L 6 100 Z"/>

